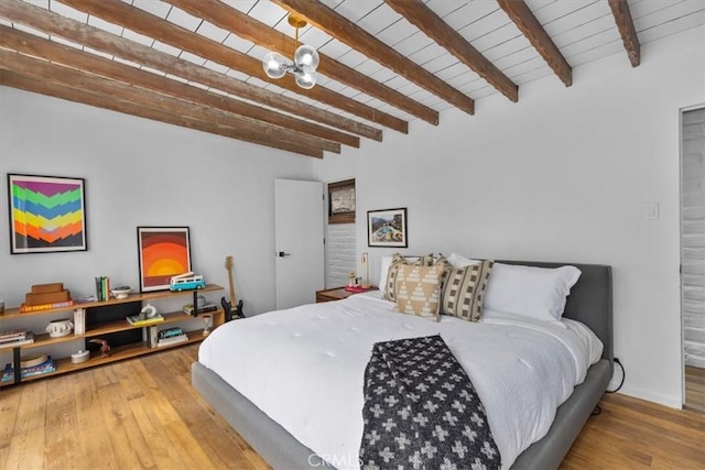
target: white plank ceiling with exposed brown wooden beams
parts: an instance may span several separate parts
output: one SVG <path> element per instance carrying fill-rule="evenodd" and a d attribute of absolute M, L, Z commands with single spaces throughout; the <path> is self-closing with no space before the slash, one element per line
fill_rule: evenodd
<path fill-rule="evenodd" d="M 262 69 L 289 12 L 310 90 Z M 0 84 L 323 157 L 702 24 L 705 0 L 0 0 Z"/>

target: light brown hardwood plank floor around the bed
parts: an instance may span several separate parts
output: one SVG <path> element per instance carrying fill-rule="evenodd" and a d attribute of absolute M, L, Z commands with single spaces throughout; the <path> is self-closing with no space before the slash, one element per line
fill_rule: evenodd
<path fill-rule="evenodd" d="M 198 346 L 0 392 L 0 469 L 267 469 L 191 387 Z M 607 394 L 562 469 L 703 469 L 705 415 Z"/>

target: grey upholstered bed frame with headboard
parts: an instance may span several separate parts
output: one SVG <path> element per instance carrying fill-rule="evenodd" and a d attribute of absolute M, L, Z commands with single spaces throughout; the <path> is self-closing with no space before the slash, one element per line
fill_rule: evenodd
<path fill-rule="evenodd" d="M 499 261 L 499 260 L 498 260 Z M 514 461 L 512 469 L 557 469 L 573 441 L 597 406 L 612 375 L 612 280 L 611 267 L 598 264 L 499 261 L 540 267 L 577 266 L 581 278 L 571 289 L 564 317 L 587 325 L 603 341 L 603 359 L 593 364 L 585 381 L 557 409 L 549 433 L 532 444 Z M 319 469 L 326 467 L 311 449 L 220 376 L 194 362 L 192 384 L 274 469 Z"/>

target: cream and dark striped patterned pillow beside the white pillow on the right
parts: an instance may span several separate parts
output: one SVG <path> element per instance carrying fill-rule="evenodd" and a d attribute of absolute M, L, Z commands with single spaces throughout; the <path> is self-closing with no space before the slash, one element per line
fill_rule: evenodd
<path fill-rule="evenodd" d="M 479 321 L 494 264 L 486 260 L 465 267 L 446 269 L 443 273 L 441 313 L 468 321 Z"/>

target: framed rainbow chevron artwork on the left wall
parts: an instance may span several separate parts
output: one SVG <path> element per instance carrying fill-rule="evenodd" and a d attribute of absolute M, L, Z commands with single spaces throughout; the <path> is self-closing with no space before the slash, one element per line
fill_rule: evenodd
<path fill-rule="evenodd" d="M 8 174 L 10 253 L 86 251 L 83 178 Z"/>

